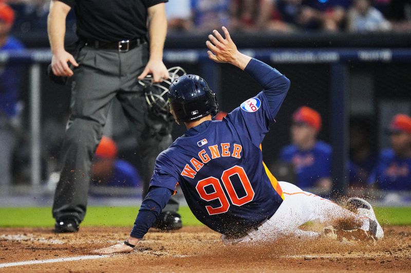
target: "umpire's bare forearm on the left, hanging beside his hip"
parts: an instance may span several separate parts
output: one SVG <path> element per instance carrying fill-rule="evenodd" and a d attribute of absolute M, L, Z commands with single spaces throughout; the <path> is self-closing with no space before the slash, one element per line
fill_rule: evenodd
<path fill-rule="evenodd" d="M 50 2 L 50 12 L 47 17 L 47 32 L 53 53 L 64 50 L 64 35 L 66 33 L 66 17 L 70 7 L 60 1 Z"/>

